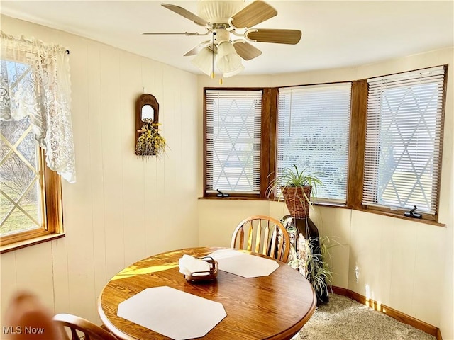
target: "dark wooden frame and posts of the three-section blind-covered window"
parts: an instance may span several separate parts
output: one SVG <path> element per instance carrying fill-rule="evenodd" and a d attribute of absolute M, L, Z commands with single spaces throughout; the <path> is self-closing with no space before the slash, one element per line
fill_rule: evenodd
<path fill-rule="evenodd" d="M 443 158 L 443 125 L 445 116 L 445 101 L 447 89 L 448 65 L 445 67 L 445 82 L 443 87 L 443 103 L 442 103 L 442 123 L 441 123 L 441 159 Z M 403 71 L 405 72 L 405 71 Z M 401 73 L 401 72 L 397 72 Z M 380 77 L 380 76 L 377 76 Z M 382 76 L 383 77 L 383 76 Z M 438 222 L 438 210 L 440 207 L 440 183 L 438 183 L 437 200 L 438 208 L 435 215 L 422 214 L 421 219 L 415 219 L 404 216 L 406 210 L 391 210 L 391 208 L 380 208 L 375 206 L 362 205 L 362 186 L 363 186 L 363 171 L 365 162 L 365 133 L 367 123 L 367 79 L 350 80 L 352 83 L 351 90 L 351 112 L 350 112 L 350 141 L 349 141 L 349 154 L 348 154 L 348 173 L 347 173 L 347 198 L 345 204 L 333 203 L 323 201 L 315 203 L 316 205 L 331 206 L 336 208 L 347 208 L 365 212 L 371 212 L 378 215 L 385 215 L 396 217 L 404 220 L 411 220 L 414 222 L 422 222 L 430 225 L 443 226 L 444 224 Z M 324 83 L 331 84 L 331 83 Z M 317 85 L 317 84 L 304 84 Z M 282 87 L 282 86 L 281 86 Z M 279 91 L 277 87 L 272 88 L 204 88 L 204 198 L 217 198 L 216 193 L 206 193 L 206 89 L 231 89 L 231 90 L 247 90 L 247 89 L 262 89 L 262 161 L 260 164 L 260 194 L 259 195 L 235 195 L 231 199 L 262 199 L 274 200 L 273 193 L 267 193 L 267 188 L 272 183 L 274 178 L 274 171 L 276 165 L 276 152 L 277 152 L 277 97 Z M 441 171 L 441 166 L 439 171 Z M 440 174 L 441 176 L 441 174 Z M 227 198 L 228 199 L 228 198 Z"/>

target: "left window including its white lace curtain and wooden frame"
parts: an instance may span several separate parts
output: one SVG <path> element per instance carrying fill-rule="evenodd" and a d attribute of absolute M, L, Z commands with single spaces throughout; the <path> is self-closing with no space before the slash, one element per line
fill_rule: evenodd
<path fill-rule="evenodd" d="M 67 51 L 1 32 L 1 251 L 62 233 L 60 175 L 75 181 Z M 39 237 L 39 238 L 38 238 Z"/>

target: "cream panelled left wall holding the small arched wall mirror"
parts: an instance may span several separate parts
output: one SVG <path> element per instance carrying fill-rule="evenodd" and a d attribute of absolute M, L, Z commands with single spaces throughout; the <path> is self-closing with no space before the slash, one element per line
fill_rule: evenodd
<path fill-rule="evenodd" d="M 99 323 L 96 299 L 125 266 L 161 251 L 196 246 L 196 76 L 93 40 L 1 17 L 11 35 L 70 50 L 77 183 L 63 183 L 66 237 L 1 254 L 1 314 L 19 288 L 55 312 Z M 160 103 L 170 149 L 135 156 L 135 99 Z"/>

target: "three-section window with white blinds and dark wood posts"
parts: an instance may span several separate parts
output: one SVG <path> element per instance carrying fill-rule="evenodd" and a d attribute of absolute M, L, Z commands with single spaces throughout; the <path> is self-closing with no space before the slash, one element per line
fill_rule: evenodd
<path fill-rule="evenodd" d="M 424 222 L 436 224 L 445 69 L 205 89 L 204 196 L 219 189 L 266 199 L 273 175 L 295 164 L 321 173 L 316 203 L 402 218 L 416 205 Z"/>

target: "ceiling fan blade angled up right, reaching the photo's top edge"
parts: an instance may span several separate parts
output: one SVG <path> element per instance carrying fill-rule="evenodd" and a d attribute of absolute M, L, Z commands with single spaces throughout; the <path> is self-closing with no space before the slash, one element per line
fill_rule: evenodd
<path fill-rule="evenodd" d="M 236 28 L 250 28 L 276 15 L 275 8 L 265 1 L 256 0 L 232 16 L 231 25 Z"/>

